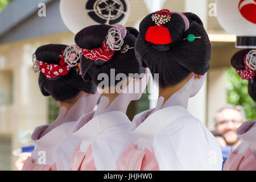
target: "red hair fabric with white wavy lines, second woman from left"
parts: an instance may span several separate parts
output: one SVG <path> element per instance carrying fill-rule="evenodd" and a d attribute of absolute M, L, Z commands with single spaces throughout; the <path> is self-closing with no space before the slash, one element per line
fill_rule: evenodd
<path fill-rule="evenodd" d="M 96 60 L 109 61 L 115 53 L 115 51 L 112 51 L 108 47 L 105 40 L 102 44 L 102 48 L 81 49 L 81 51 L 86 59 L 90 59 L 94 61 Z"/>

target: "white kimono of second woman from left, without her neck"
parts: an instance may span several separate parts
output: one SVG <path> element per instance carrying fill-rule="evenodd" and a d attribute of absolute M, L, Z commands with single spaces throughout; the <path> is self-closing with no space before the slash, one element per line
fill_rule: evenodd
<path fill-rule="evenodd" d="M 88 161 L 73 162 L 72 170 L 115 170 L 122 152 L 135 140 L 127 132 L 131 121 L 121 111 L 108 111 L 92 118 L 93 115 L 94 112 L 84 115 L 73 130 L 74 136 L 82 140 L 80 152 L 88 155 L 88 148 L 92 147 L 92 163 L 80 168 Z"/>

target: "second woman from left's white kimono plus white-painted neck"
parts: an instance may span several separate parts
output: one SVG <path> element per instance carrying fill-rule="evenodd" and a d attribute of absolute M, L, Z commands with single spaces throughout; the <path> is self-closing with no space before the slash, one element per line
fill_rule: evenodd
<path fill-rule="evenodd" d="M 102 97 L 95 112 L 81 117 L 73 129 L 73 135 L 82 140 L 73 155 L 71 170 L 115 170 L 123 151 L 136 137 L 128 132 L 130 119 L 126 110 L 132 100 L 141 97 L 148 82 L 148 75 L 141 81 L 133 78 L 121 94 L 109 105 Z M 133 89 L 137 93 L 131 92 Z M 130 92 L 129 92 L 130 90 Z"/>

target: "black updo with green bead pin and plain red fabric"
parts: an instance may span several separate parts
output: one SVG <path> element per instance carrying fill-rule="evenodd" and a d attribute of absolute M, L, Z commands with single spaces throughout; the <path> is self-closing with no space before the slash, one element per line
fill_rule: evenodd
<path fill-rule="evenodd" d="M 139 25 L 135 54 L 143 67 L 159 73 L 159 86 L 172 86 L 191 72 L 209 69 L 211 45 L 200 18 L 192 13 L 160 10 Z"/>

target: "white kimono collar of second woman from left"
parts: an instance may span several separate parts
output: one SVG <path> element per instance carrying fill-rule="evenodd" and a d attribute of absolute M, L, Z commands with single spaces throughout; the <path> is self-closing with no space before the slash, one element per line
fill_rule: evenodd
<path fill-rule="evenodd" d="M 130 119 L 122 111 L 108 111 L 92 118 L 94 111 L 83 115 L 72 130 L 75 137 L 92 142 L 110 127 L 130 124 Z"/>

